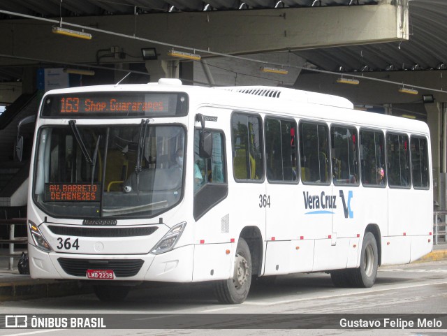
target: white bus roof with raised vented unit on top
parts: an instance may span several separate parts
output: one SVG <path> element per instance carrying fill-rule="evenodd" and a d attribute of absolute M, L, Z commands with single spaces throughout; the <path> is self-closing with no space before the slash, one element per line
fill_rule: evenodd
<path fill-rule="evenodd" d="M 425 122 L 420 122 L 416 120 L 406 119 L 402 117 L 381 115 L 374 112 L 365 112 L 361 110 L 354 110 L 353 103 L 346 98 L 340 96 L 334 96 L 330 94 L 321 94 L 317 92 L 307 92 L 298 89 L 290 89 L 286 87 L 268 87 L 268 86 L 241 86 L 241 87 L 200 87 L 193 85 L 182 85 L 182 82 L 178 79 L 163 78 L 159 82 L 152 82 L 147 84 L 135 84 L 135 85 L 94 85 L 87 87 L 72 87 L 68 89 L 55 89 L 47 94 L 67 94 L 75 92 L 143 92 L 143 91 L 166 91 L 166 92 L 186 92 L 187 94 L 196 94 L 197 96 L 206 96 L 210 101 L 203 101 L 203 103 L 209 103 L 214 105 L 223 104 L 230 105 L 230 108 L 240 108 L 245 109 L 247 106 L 254 108 L 254 101 L 258 98 L 263 100 L 263 108 L 267 108 L 265 105 L 267 101 L 270 103 L 276 102 L 273 105 L 285 103 L 287 101 L 292 101 L 294 103 L 307 104 L 310 103 L 314 106 L 322 106 L 326 108 L 312 108 L 312 112 L 293 112 L 291 113 L 290 108 L 288 112 L 284 111 L 285 115 L 296 116 L 301 118 L 318 118 L 318 119 L 328 119 L 330 122 L 337 123 L 355 123 L 362 126 L 371 127 L 385 127 L 390 130 L 407 130 L 407 131 L 418 131 L 419 133 L 428 134 L 428 126 Z M 206 94 L 205 94 L 206 92 Z M 246 95 L 247 99 L 241 99 L 239 103 L 228 103 L 228 95 Z M 250 96 L 250 98 L 248 97 Z M 266 100 L 265 100 L 266 99 Z M 196 100 L 196 99 L 195 99 Z M 260 105 L 261 105 L 260 104 Z M 273 106 L 270 105 L 270 108 Z M 331 111 L 328 115 L 327 108 L 335 107 L 336 110 Z M 340 109 L 340 110 L 339 110 Z M 275 109 L 276 110 L 276 109 Z M 273 110 L 266 110 L 266 113 L 273 112 Z M 277 111 L 278 112 L 278 111 Z"/>

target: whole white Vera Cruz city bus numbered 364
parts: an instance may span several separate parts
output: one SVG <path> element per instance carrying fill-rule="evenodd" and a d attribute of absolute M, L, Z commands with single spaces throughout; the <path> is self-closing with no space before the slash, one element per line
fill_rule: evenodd
<path fill-rule="evenodd" d="M 28 200 L 31 277 L 85 279 L 101 300 L 144 281 L 330 272 L 370 287 L 379 265 L 432 250 L 430 133 L 279 87 L 147 85 L 43 96 Z"/>

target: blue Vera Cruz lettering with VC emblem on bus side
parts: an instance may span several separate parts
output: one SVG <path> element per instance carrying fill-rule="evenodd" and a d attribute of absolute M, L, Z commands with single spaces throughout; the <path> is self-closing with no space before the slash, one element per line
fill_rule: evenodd
<path fill-rule="evenodd" d="M 306 210 L 312 210 L 305 212 L 305 214 L 335 214 L 334 210 L 337 209 L 337 196 L 326 195 L 324 191 L 321 191 L 320 195 L 311 195 L 309 191 L 303 191 L 302 196 L 305 200 Z M 348 199 L 346 200 L 344 192 L 340 190 L 339 197 L 342 198 L 344 218 L 353 218 L 354 212 L 351 210 L 353 191 L 348 191 Z"/>

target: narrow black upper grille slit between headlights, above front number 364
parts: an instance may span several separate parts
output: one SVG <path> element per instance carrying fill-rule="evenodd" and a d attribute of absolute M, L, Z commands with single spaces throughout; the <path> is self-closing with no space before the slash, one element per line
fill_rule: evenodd
<path fill-rule="evenodd" d="M 152 235 L 157 230 L 157 226 L 138 226 L 124 228 L 116 226 L 113 228 L 87 228 L 85 226 L 59 226 L 49 225 L 50 231 L 56 235 L 69 235 L 75 237 L 137 237 L 142 235 Z"/>

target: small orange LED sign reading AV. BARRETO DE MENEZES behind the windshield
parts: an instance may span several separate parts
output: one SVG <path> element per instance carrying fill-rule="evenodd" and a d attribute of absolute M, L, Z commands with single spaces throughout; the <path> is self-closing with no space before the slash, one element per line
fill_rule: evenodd
<path fill-rule="evenodd" d="M 99 184 L 45 183 L 45 201 L 99 202 Z"/>

